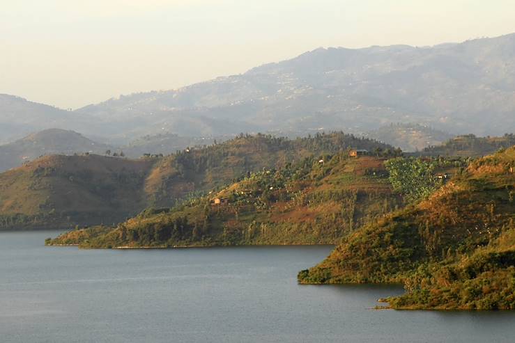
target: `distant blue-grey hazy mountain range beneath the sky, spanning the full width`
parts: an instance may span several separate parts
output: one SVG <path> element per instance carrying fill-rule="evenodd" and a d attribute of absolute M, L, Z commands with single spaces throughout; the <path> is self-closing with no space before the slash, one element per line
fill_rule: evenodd
<path fill-rule="evenodd" d="M 363 133 L 392 122 L 502 135 L 515 128 L 515 34 L 434 47 L 321 48 L 244 74 L 76 111 L 1 99 L 0 126 L 11 137 L 50 122 L 125 144 L 159 132 Z"/>

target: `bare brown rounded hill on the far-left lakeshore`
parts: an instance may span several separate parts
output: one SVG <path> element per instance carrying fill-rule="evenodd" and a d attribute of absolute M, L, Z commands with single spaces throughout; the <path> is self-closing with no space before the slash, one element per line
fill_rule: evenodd
<path fill-rule="evenodd" d="M 52 155 L 0 174 L 0 228 L 113 223 L 146 205 L 151 160 Z"/>

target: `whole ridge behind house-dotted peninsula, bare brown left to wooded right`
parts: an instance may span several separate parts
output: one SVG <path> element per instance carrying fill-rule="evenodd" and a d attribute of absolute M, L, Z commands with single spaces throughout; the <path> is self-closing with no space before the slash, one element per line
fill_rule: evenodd
<path fill-rule="evenodd" d="M 293 141 L 241 135 L 222 144 L 137 160 L 93 154 L 43 157 L 0 174 L 0 229 L 118 223 L 146 207 L 171 207 L 248 171 L 350 147 L 392 151 L 383 143 L 335 133 Z"/>

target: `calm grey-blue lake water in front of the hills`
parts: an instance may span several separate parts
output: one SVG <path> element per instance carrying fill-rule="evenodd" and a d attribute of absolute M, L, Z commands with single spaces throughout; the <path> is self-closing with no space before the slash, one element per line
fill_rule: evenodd
<path fill-rule="evenodd" d="M 0 232 L 0 342 L 514 342 L 515 312 L 371 310 L 400 287 L 300 286 L 328 246 L 78 250 Z"/>

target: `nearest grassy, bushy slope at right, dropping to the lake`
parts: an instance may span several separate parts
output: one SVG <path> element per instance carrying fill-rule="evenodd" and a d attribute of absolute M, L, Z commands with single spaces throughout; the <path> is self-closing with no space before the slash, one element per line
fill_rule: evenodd
<path fill-rule="evenodd" d="M 429 199 L 346 237 L 299 281 L 406 282 L 394 308 L 514 308 L 510 166 L 515 147 L 473 162 Z"/>

